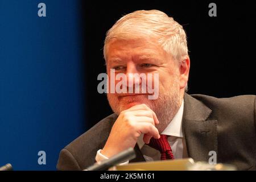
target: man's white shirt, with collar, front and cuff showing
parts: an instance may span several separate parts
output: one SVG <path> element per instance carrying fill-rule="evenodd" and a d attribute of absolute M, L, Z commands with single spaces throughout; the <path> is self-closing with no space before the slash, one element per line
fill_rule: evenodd
<path fill-rule="evenodd" d="M 161 134 L 169 135 L 168 142 L 172 148 L 172 154 L 174 154 L 175 159 L 182 159 L 183 158 L 183 132 L 182 132 L 182 116 L 184 110 L 184 100 L 180 106 L 180 109 L 177 111 L 177 114 L 169 123 L 169 125 L 164 129 Z M 146 161 L 152 160 L 160 160 L 160 152 L 155 150 L 154 148 L 144 144 L 143 142 L 143 135 L 138 138 L 137 144 L 139 149 L 141 150 L 144 158 Z M 96 161 L 100 162 L 102 160 L 108 159 L 106 156 L 101 154 L 101 150 L 97 151 Z M 128 161 L 122 164 L 127 164 Z"/>

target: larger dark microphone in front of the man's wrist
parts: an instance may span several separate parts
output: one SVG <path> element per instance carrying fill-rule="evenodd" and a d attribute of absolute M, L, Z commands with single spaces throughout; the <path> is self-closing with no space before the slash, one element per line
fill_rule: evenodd
<path fill-rule="evenodd" d="M 108 170 L 110 167 L 115 166 L 116 164 L 126 162 L 127 160 L 134 159 L 135 157 L 136 154 L 134 149 L 128 148 L 127 150 L 122 151 L 109 159 L 93 164 L 92 166 L 84 169 L 84 171 L 105 171 Z"/>

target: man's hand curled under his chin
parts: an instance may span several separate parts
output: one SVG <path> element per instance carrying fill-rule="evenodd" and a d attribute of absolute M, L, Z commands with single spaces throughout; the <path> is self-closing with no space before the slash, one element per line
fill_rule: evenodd
<path fill-rule="evenodd" d="M 149 143 L 151 137 L 159 139 L 160 135 L 155 127 L 158 124 L 156 114 L 146 104 L 123 110 L 115 121 L 101 153 L 110 158 L 129 147 L 134 148 L 141 134 L 144 134 L 145 143 Z"/>

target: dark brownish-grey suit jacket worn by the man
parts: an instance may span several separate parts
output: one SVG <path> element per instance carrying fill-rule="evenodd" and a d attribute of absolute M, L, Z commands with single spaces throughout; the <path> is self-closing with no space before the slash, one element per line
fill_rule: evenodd
<path fill-rule="evenodd" d="M 240 170 L 256 169 L 255 96 L 215 98 L 184 95 L 183 131 L 187 154 L 208 162 L 209 151 L 217 152 L 217 163 L 234 164 Z M 57 169 L 81 170 L 94 164 L 97 150 L 109 137 L 116 114 L 102 119 L 60 152 Z M 137 158 L 145 161 L 138 146 Z"/>

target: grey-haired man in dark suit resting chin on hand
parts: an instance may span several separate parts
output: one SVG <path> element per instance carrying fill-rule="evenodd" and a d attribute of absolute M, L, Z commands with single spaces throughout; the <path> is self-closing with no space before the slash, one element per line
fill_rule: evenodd
<path fill-rule="evenodd" d="M 114 114 L 61 150 L 57 169 L 85 169 L 129 147 L 137 152 L 130 162 L 188 157 L 208 162 L 209 152 L 216 152 L 218 163 L 256 169 L 255 96 L 220 99 L 185 93 L 187 40 L 173 18 L 158 10 L 123 16 L 106 35 L 104 57 L 108 75 L 114 70 L 134 80 L 123 88 L 142 85 L 141 79 L 135 81 L 137 73 L 158 74 L 151 78 L 158 98 L 108 93 Z"/>

